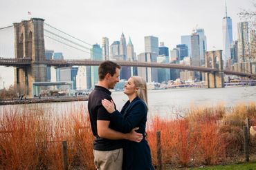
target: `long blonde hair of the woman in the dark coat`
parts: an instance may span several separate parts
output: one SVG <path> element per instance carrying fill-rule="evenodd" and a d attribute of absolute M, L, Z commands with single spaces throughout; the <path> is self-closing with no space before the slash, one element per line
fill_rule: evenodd
<path fill-rule="evenodd" d="M 147 105 L 147 83 L 141 76 L 131 76 L 137 90 L 137 96 Z M 148 108 L 148 107 L 147 107 Z"/>

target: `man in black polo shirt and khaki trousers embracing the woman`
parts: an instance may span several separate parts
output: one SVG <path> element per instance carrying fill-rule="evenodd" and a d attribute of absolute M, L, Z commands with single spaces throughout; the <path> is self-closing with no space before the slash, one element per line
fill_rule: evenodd
<path fill-rule="evenodd" d="M 98 69 L 99 82 L 95 85 L 89 96 L 88 110 L 91 129 L 95 140 L 93 142 L 94 164 L 97 169 L 120 170 L 122 169 L 122 140 L 140 142 L 142 134 L 133 129 L 129 134 L 116 131 L 110 121 L 110 114 L 102 106 L 101 100 L 112 100 L 111 92 L 119 82 L 120 65 L 112 61 L 104 61 Z M 116 107 L 116 106 L 115 106 Z"/>

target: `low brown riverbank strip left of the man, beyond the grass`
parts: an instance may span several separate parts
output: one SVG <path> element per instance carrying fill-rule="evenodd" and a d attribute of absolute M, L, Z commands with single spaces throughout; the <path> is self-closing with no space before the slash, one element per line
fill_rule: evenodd
<path fill-rule="evenodd" d="M 59 97 L 38 97 L 12 100 L 0 100 L 0 105 L 23 105 L 33 103 L 56 103 L 88 100 L 89 96 L 59 96 Z"/>

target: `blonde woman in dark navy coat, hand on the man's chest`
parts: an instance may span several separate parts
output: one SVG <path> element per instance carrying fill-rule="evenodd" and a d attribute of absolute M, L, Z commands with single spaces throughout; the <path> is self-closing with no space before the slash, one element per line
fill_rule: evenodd
<path fill-rule="evenodd" d="M 145 129 L 147 122 L 147 84 L 140 76 L 132 76 L 125 84 L 124 93 L 129 100 L 122 110 L 115 110 L 113 101 L 102 100 L 102 105 L 111 114 L 111 123 L 119 127 L 118 131 L 129 133 L 131 129 L 139 127 L 138 133 L 143 134 L 141 142 L 131 142 L 125 140 L 123 147 L 124 158 L 122 169 L 154 169 L 149 145 L 145 140 Z"/>

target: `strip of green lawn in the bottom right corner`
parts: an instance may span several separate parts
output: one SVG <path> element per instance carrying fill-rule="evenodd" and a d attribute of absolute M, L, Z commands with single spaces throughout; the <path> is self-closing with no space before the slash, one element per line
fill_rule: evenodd
<path fill-rule="evenodd" d="M 249 163 L 241 163 L 241 164 L 231 164 L 231 165 L 219 165 L 214 167 L 203 167 L 203 168 L 192 168 L 193 170 L 196 169 L 209 169 L 209 170 L 256 170 L 256 162 L 249 162 Z"/>

